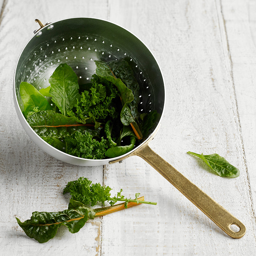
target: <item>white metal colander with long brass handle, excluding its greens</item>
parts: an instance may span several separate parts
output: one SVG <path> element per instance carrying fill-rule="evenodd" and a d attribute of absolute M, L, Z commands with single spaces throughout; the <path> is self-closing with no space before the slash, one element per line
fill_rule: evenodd
<path fill-rule="evenodd" d="M 169 163 L 158 156 L 149 146 L 159 128 L 165 105 L 165 85 L 159 65 L 150 50 L 138 37 L 126 29 L 106 20 L 71 18 L 43 25 L 23 48 L 14 72 L 13 97 L 20 123 L 28 136 L 49 155 L 69 164 L 95 166 L 113 164 L 129 156 L 140 156 L 172 183 L 183 195 L 233 238 L 240 238 L 246 228 L 238 219 L 207 196 Z M 110 159 L 84 159 L 68 155 L 42 140 L 29 126 L 22 114 L 23 106 L 19 87 L 21 82 L 33 84 L 38 90 L 49 86 L 48 79 L 61 64 L 73 68 L 79 84 L 90 82 L 95 73 L 94 60 L 125 59 L 129 62 L 140 84 L 139 111 L 156 110 L 159 120 L 148 137 L 135 145 L 129 153 Z M 239 231 L 230 226 L 235 224 Z"/>

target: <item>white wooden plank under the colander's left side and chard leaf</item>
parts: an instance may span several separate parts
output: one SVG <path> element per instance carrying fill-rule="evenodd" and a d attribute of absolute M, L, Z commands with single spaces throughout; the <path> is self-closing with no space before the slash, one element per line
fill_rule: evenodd
<path fill-rule="evenodd" d="M 61 227 L 54 239 L 41 245 L 29 239 L 15 217 L 24 221 L 34 211 L 61 211 L 68 207 L 68 195 L 62 195 L 70 180 L 80 176 L 102 183 L 103 167 L 80 167 L 60 162 L 39 149 L 21 127 L 12 99 L 12 78 L 19 53 L 43 23 L 75 16 L 107 18 L 107 1 L 5 1 L 0 23 L 0 186 L 2 188 L 1 246 L 4 255 L 99 255 L 101 218 L 89 221 L 77 234 Z M 65 3 L 66 4 L 66 3 Z M 95 9 L 101 6 L 95 13 Z M 77 8 L 79 7 L 79 8 Z M 1 254 L 1 253 L 0 253 Z"/>

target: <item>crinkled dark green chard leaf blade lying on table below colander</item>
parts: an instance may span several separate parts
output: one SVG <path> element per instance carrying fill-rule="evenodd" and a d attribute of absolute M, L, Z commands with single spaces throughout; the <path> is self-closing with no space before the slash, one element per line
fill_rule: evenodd
<path fill-rule="evenodd" d="M 89 219 L 94 219 L 93 209 L 86 207 L 79 202 L 72 202 L 70 199 L 69 209 L 62 212 L 33 212 L 30 220 L 17 222 L 26 235 L 34 238 L 39 243 L 45 243 L 53 238 L 57 229 L 64 225 L 69 232 L 76 233 Z"/>

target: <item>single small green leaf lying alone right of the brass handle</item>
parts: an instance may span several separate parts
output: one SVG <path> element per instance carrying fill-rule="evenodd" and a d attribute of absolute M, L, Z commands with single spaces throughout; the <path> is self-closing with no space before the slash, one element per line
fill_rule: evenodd
<path fill-rule="evenodd" d="M 227 176 L 227 177 L 238 177 L 239 176 L 239 169 L 237 169 L 232 164 L 228 163 L 228 161 L 218 154 L 212 154 L 212 155 L 203 155 L 203 154 L 196 154 L 193 152 L 188 151 L 187 152 L 190 155 L 198 156 L 204 162 L 214 171 L 217 172 L 217 174 L 221 177 Z"/>

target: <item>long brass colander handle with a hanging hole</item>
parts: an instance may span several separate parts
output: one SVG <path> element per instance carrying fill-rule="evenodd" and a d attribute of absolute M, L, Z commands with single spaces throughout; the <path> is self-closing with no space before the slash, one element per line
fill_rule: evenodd
<path fill-rule="evenodd" d="M 166 180 L 195 204 L 204 214 L 206 214 L 215 224 L 232 238 L 241 238 L 246 232 L 244 224 L 236 219 L 231 213 L 206 195 L 201 189 L 196 187 L 191 181 L 178 172 L 171 164 L 167 163 L 157 155 L 148 143 L 142 145 L 133 152 L 133 155 L 140 156 L 154 167 Z M 236 225 L 238 232 L 233 231 L 230 226 Z"/>

